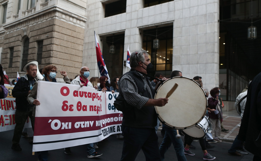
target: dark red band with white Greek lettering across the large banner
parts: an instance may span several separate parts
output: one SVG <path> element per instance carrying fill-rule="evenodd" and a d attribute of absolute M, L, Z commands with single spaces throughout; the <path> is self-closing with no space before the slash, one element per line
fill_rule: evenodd
<path fill-rule="evenodd" d="M 120 113 L 102 116 L 35 117 L 34 136 L 93 131 L 121 122 Z"/>

